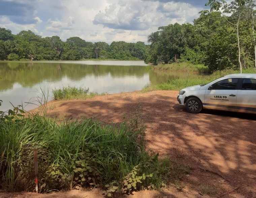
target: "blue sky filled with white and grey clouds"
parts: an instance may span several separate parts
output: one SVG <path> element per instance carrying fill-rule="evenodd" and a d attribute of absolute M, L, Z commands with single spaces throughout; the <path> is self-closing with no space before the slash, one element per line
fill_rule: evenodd
<path fill-rule="evenodd" d="M 0 27 L 61 40 L 147 44 L 160 26 L 192 23 L 207 0 L 0 0 Z"/>

